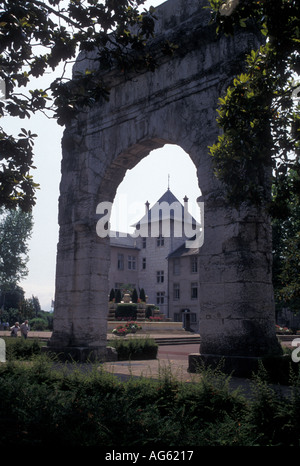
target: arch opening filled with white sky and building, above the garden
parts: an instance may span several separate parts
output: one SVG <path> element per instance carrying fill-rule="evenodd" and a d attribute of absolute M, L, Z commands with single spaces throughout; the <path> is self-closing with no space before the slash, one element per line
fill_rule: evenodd
<path fill-rule="evenodd" d="M 190 251 L 187 260 L 180 256 L 188 249 L 187 239 L 200 229 L 200 195 L 190 156 L 181 147 L 166 144 L 127 171 L 110 219 L 110 293 L 144 290 L 148 304 L 159 309 L 162 319 L 177 322 L 178 309 L 189 306 L 194 317 L 189 328 L 195 332 L 200 309 L 199 248 Z M 185 276 L 181 285 L 173 273 L 178 262 Z"/>

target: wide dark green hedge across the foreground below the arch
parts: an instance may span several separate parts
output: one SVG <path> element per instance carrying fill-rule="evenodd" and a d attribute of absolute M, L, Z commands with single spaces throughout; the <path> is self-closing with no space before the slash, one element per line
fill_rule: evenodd
<path fill-rule="evenodd" d="M 121 382 L 103 366 L 54 362 L 0 364 L 2 447 L 299 446 L 299 375 L 291 395 L 260 374 L 246 395 L 230 390 L 221 371 L 185 383 L 167 368 L 157 380 Z"/>

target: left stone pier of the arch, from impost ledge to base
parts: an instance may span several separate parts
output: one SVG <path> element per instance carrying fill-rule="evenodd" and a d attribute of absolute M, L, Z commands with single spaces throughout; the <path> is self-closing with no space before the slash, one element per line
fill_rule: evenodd
<path fill-rule="evenodd" d="M 88 226 L 76 227 L 73 236 L 74 250 L 58 245 L 49 349 L 79 361 L 107 359 L 107 299 L 103 297 L 108 295 L 109 248 Z"/>

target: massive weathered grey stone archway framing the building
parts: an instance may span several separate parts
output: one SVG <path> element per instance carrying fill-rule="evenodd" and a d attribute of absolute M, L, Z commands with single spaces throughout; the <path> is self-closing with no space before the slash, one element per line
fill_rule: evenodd
<path fill-rule="evenodd" d="M 198 0 L 158 8 L 156 32 L 180 37 L 155 72 L 111 73 L 109 102 L 82 113 L 65 131 L 59 202 L 54 330 L 49 346 L 84 360 L 106 351 L 108 239 L 96 233 L 97 205 L 112 202 L 128 168 L 166 143 L 197 167 L 205 205 L 200 251 L 201 358 L 233 364 L 279 354 L 271 281 L 271 229 L 257 209 L 226 205 L 208 146 L 217 136 L 221 89 L 239 70 L 255 34 L 216 38 Z M 79 61 L 77 71 L 88 67 Z M 183 174 L 184 176 L 184 174 Z M 196 358 L 197 359 L 197 358 Z M 194 361 L 195 359 L 193 359 Z"/>

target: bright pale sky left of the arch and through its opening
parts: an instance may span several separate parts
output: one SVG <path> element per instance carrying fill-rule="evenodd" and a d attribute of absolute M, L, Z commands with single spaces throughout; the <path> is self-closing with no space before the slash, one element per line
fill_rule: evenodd
<path fill-rule="evenodd" d="M 161 3 L 163 3 L 161 0 L 152 0 L 147 1 L 145 6 L 157 6 Z M 35 142 L 37 168 L 32 174 L 35 182 L 40 184 L 40 189 L 33 208 L 32 237 L 28 241 L 29 273 L 20 282 L 20 286 L 24 289 L 26 298 L 32 295 L 38 297 L 41 308 L 50 311 L 52 300 L 55 298 L 63 128 L 44 115 L 35 115 L 29 121 L 11 118 L 3 124 L 3 127 L 14 134 L 18 133 L 21 127 L 38 134 Z M 127 171 L 114 200 L 111 228 L 130 232 L 129 226 L 143 216 L 145 202 L 148 201 L 150 207 L 153 206 L 168 186 L 180 202 L 183 203 L 184 196 L 189 198 L 189 211 L 198 220 L 199 209 L 196 199 L 200 195 L 200 190 L 196 168 L 188 154 L 180 147 L 166 145 L 151 152 L 136 167 Z"/>

